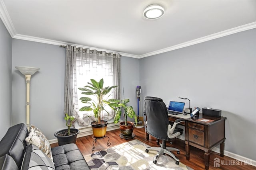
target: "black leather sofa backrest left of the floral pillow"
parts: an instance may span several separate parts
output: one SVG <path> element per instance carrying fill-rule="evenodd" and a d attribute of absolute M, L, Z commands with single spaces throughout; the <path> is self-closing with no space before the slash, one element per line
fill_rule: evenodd
<path fill-rule="evenodd" d="M 9 154 L 20 168 L 26 150 L 27 135 L 28 129 L 24 123 L 10 127 L 0 141 L 0 157 Z"/>

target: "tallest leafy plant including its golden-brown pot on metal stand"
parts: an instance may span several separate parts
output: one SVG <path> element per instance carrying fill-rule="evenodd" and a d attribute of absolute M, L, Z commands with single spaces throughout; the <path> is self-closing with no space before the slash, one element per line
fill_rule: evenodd
<path fill-rule="evenodd" d="M 104 111 L 107 111 L 106 106 L 109 106 L 111 109 L 114 109 L 115 107 L 118 107 L 118 102 L 120 100 L 117 99 L 108 99 L 110 95 L 107 96 L 107 94 L 112 90 L 112 88 L 116 88 L 117 86 L 111 86 L 111 87 L 103 87 L 104 80 L 103 78 L 97 82 L 94 79 L 91 79 L 91 82 L 88 82 L 89 85 L 84 86 L 84 88 L 78 88 L 79 90 L 82 90 L 82 94 L 86 96 L 94 95 L 96 96 L 96 100 L 92 100 L 88 97 L 82 97 L 79 100 L 82 101 L 82 103 L 87 104 L 87 106 L 84 106 L 80 108 L 80 111 L 93 111 L 95 121 L 91 122 L 92 125 L 92 131 L 95 138 L 102 138 L 106 135 L 106 129 L 108 125 L 108 121 L 103 120 L 103 113 Z"/>

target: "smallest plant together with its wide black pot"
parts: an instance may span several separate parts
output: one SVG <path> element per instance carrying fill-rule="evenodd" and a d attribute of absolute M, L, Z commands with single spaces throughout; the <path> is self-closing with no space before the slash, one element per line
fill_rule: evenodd
<path fill-rule="evenodd" d="M 54 136 L 58 139 L 58 145 L 65 145 L 68 143 L 76 143 L 76 136 L 79 133 L 79 129 L 71 128 L 72 122 L 75 121 L 75 117 L 65 113 L 64 119 L 66 120 L 66 126 L 68 129 L 62 129 L 54 133 Z"/>

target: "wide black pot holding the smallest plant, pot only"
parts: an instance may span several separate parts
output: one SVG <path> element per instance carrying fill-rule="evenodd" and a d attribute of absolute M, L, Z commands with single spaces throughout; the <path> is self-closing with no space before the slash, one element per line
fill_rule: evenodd
<path fill-rule="evenodd" d="M 67 132 L 68 129 L 62 129 L 60 131 L 57 131 L 54 133 L 54 136 L 58 139 L 58 145 L 66 145 L 69 143 L 76 143 L 76 136 L 79 133 L 79 129 L 70 129 L 70 134 L 69 136 L 60 136 L 61 133 Z"/>

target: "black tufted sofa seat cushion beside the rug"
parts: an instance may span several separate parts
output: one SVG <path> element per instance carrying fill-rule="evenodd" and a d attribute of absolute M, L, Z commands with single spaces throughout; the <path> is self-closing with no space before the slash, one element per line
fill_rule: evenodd
<path fill-rule="evenodd" d="M 84 156 L 74 143 L 52 148 L 52 156 L 56 170 L 90 170 Z"/>

